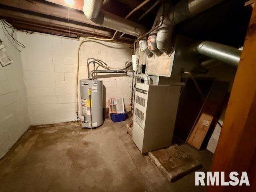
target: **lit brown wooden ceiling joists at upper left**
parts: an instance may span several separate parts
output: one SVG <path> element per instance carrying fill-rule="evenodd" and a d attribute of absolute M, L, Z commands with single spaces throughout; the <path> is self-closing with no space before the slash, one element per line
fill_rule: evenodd
<path fill-rule="evenodd" d="M 82 11 L 73 8 L 69 8 L 68 23 L 68 8 L 45 0 L 1 0 L 0 17 L 19 29 L 43 33 L 66 35 L 70 28 L 71 36 L 110 38 L 114 34 L 114 30 L 94 24 Z M 133 39 L 116 41 L 131 43 Z"/>

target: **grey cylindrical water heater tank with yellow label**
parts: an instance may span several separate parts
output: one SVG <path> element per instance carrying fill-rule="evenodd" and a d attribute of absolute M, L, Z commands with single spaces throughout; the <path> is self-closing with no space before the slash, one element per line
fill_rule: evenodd
<path fill-rule="evenodd" d="M 89 91 L 88 91 L 89 90 Z M 90 96 L 91 93 L 91 102 Z M 103 88 L 102 80 L 80 80 L 82 105 L 82 128 L 94 128 L 103 124 Z M 91 104 L 91 109 L 90 109 Z M 92 121 L 91 121 L 92 118 Z"/>

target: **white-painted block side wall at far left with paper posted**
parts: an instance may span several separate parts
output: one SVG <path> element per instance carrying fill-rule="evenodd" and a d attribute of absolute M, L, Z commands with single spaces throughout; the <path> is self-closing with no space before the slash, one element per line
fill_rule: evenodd
<path fill-rule="evenodd" d="M 0 158 L 2 158 L 30 127 L 30 118 L 20 52 L 9 42 L 1 27 L 0 38 L 14 60 L 8 66 L 0 66 Z"/>

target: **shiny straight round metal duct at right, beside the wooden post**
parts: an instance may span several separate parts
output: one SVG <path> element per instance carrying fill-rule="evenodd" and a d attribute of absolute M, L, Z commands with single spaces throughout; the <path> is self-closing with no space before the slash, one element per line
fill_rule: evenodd
<path fill-rule="evenodd" d="M 234 67 L 238 66 L 242 51 L 237 48 L 215 43 L 211 41 L 200 41 L 191 44 L 188 47 L 189 54 L 203 54 L 210 58 L 222 61 L 226 64 L 230 64 Z"/>

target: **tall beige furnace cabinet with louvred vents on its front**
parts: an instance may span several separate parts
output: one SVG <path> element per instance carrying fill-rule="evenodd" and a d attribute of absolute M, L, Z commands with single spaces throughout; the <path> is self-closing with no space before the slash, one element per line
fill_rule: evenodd
<path fill-rule="evenodd" d="M 170 146 L 180 86 L 136 84 L 132 140 L 141 153 Z"/>

